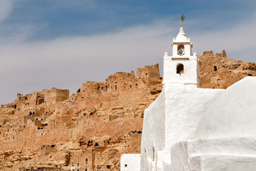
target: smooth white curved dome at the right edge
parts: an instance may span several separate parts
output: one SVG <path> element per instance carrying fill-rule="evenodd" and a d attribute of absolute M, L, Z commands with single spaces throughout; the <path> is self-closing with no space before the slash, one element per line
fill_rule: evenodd
<path fill-rule="evenodd" d="M 200 118 L 197 137 L 229 138 L 256 136 L 256 78 L 233 84 Z"/>

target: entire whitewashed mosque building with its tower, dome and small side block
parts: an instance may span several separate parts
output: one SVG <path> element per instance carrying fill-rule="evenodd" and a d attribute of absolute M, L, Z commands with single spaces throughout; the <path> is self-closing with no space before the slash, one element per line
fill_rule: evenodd
<path fill-rule="evenodd" d="M 255 171 L 256 78 L 200 88 L 183 24 L 172 46 L 173 56 L 163 56 L 162 93 L 144 113 L 141 152 L 123 154 L 121 171 Z"/>

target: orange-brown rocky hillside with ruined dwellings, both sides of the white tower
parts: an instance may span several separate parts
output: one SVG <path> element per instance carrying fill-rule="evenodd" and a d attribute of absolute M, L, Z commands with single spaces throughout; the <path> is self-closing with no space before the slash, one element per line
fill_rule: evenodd
<path fill-rule="evenodd" d="M 255 63 L 205 52 L 202 88 L 256 76 Z M 162 90 L 158 64 L 114 73 L 106 82 L 17 95 L 0 108 L 0 170 L 120 170 L 121 153 L 140 153 L 143 111 Z"/>

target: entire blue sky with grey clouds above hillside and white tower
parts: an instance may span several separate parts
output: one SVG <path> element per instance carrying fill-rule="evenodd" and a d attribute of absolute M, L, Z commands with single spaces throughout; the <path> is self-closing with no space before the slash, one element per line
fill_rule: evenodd
<path fill-rule="evenodd" d="M 159 63 L 183 28 L 193 52 L 256 63 L 255 0 L 0 0 L 0 103 Z"/>

